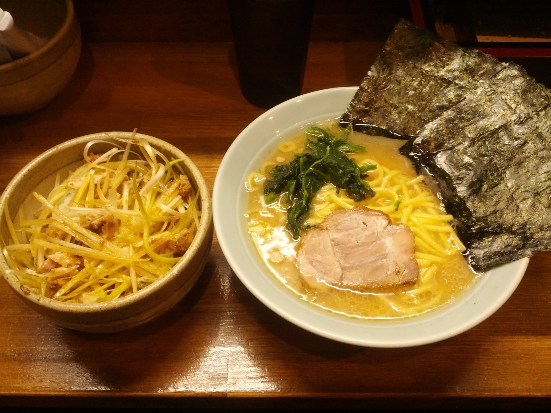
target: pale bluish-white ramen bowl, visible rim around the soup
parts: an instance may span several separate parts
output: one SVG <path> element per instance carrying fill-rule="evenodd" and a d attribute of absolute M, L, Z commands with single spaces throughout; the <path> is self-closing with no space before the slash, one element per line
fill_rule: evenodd
<path fill-rule="evenodd" d="M 268 308 L 329 339 L 370 347 L 408 347 L 463 333 L 491 316 L 511 296 L 528 258 L 487 271 L 467 291 L 434 311 L 403 319 L 365 320 L 302 300 L 271 273 L 247 232 L 247 175 L 257 171 L 279 143 L 306 124 L 341 116 L 356 90 L 325 89 L 283 102 L 255 119 L 235 139 L 220 164 L 213 192 L 214 227 L 224 256 L 241 282 Z"/>

